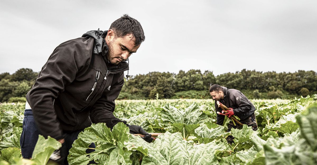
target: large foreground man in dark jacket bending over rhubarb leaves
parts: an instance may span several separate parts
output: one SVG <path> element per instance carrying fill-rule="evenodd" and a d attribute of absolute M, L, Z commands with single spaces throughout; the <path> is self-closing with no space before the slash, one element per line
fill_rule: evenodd
<path fill-rule="evenodd" d="M 67 164 L 68 150 L 84 128 L 100 122 L 111 129 L 119 122 L 126 124 L 114 117 L 114 101 L 124 83 L 123 72 L 129 69 L 125 61 L 144 40 L 141 24 L 123 15 L 108 31 L 89 31 L 57 46 L 26 95 L 22 156 L 32 156 L 41 134 L 62 143 L 51 159 Z M 140 126 L 126 125 L 130 133 L 153 140 Z"/>

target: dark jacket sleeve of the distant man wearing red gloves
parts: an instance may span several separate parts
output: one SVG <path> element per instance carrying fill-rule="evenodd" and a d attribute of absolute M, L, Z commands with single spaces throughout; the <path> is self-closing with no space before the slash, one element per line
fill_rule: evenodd
<path fill-rule="evenodd" d="M 230 99 L 237 106 L 237 108 L 233 109 L 234 114 L 237 116 L 250 111 L 252 108 L 247 98 L 240 93 L 235 93 Z"/>

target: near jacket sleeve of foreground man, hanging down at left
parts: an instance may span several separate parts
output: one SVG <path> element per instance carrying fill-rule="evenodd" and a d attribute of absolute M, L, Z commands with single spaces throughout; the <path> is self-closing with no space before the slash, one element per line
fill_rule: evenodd
<path fill-rule="evenodd" d="M 63 138 L 63 131 L 53 108 L 53 100 L 64 91 L 65 86 L 74 81 L 78 70 L 85 66 L 79 45 L 66 43 L 56 47 L 27 95 L 41 134 L 57 140 Z"/>

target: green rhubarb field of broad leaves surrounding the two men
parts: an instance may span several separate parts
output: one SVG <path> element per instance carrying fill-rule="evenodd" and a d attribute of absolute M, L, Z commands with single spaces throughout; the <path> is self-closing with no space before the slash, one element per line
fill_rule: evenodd
<path fill-rule="evenodd" d="M 114 115 L 149 133 L 152 143 L 129 134 L 119 123 L 86 128 L 69 151 L 69 164 L 317 164 L 317 95 L 294 100 L 252 100 L 258 130 L 241 126 L 227 132 L 216 123 L 212 100 L 117 101 Z M 22 159 L 20 136 L 24 104 L 0 106 L 0 164 L 46 164 L 60 147 L 40 137 L 31 160 Z M 235 137 L 228 144 L 226 137 Z M 94 152 L 87 154 L 94 143 Z"/>

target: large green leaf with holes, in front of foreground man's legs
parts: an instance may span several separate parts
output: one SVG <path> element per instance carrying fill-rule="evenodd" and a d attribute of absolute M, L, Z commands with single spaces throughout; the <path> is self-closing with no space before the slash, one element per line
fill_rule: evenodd
<path fill-rule="evenodd" d="M 98 164 L 131 164 L 132 152 L 124 145 L 129 136 L 129 128 L 121 122 L 113 127 L 112 132 L 105 123 L 93 124 L 79 133 L 78 139 L 69 150 L 68 162 L 86 165 L 94 160 Z M 96 145 L 95 151 L 86 153 L 91 143 Z"/>

